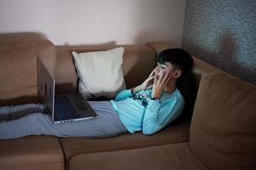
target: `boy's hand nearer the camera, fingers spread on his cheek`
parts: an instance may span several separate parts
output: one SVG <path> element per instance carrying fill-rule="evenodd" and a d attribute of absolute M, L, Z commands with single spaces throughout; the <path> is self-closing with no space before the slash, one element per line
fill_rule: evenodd
<path fill-rule="evenodd" d="M 165 71 L 163 74 L 160 75 L 159 80 L 157 80 L 156 77 L 154 77 L 154 84 L 152 88 L 151 97 L 160 99 L 170 79 L 171 79 L 171 71 Z"/>

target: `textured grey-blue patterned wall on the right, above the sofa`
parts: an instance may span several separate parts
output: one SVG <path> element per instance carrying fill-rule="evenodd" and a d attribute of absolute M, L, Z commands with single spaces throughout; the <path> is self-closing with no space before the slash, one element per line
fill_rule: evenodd
<path fill-rule="evenodd" d="M 256 0 L 187 0 L 183 48 L 256 84 Z"/>

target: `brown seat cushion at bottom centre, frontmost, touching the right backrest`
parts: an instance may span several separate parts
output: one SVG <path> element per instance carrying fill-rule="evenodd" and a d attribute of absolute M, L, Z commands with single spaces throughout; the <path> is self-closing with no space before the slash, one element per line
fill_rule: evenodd
<path fill-rule="evenodd" d="M 165 144 L 133 150 L 119 150 L 74 156 L 70 170 L 82 169 L 207 169 L 190 151 L 188 143 Z"/>

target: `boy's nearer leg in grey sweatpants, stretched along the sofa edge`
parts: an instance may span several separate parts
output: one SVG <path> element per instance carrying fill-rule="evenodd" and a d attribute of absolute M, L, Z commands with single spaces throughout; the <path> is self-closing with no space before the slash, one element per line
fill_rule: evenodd
<path fill-rule="evenodd" d="M 27 135 L 54 135 L 58 137 L 110 137 L 127 130 L 111 104 L 92 105 L 97 117 L 78 122 L 55 124 L 48 115 L 35 113 L 9 122 L 0 122 L 0 139 L 15 139 Z"/>

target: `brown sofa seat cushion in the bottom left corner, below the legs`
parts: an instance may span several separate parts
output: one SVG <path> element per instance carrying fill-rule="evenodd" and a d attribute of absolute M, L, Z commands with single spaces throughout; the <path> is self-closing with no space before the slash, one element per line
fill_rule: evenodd
<path fill-rule="evenodd" d="M 51 136 L 28 136 L 0 140 L 0 169 L 64 169 L 59 139 Z"/>

